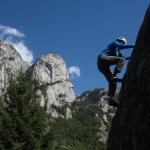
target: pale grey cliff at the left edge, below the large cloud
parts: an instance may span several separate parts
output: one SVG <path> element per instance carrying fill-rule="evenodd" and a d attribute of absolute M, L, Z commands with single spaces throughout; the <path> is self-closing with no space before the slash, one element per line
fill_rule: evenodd
<path fill-rule="evenodd" d="M 0 41 L 0 96 L 5 93 L 9 79 L 17 75 L 21 69 L 27 68 L 27 63 L 23 61 L 15 48 Z"/>

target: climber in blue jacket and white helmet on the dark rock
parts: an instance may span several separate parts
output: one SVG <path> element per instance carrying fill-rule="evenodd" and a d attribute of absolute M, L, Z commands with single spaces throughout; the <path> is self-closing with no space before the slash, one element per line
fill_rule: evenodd
<path fill-rule="evenodd" d="M 122 79 L 117 78 L 117 74 L 123 69 L 125 61 L 130 59 L 130 57 L 124 57 L 120 51 L 133 47 L 134 45 L 128 45 L 125 37 L 119 37 L 110 43 L 108 47 L 98 56 L 98 70 L 105 76 L 109 84 L 106 99 L 108 100 L 110 106 L 118 106 L 118 103 L 114 99 L 114 95 L 117 82 L 122 82 Z M 116 65 L 113 73 L 110 69 L 112 65 Z"/>

